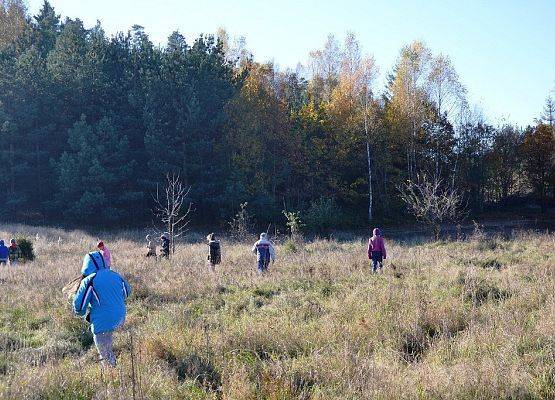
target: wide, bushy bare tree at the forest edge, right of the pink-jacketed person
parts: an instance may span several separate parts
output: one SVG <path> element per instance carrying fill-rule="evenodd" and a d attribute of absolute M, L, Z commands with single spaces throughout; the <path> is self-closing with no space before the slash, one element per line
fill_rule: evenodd
<path fill-rule="evenodd" d="M 439 239 L 441 224 L 460 220 L 463 215 L 462 197 L 453 187 L 443 186 L 441 179 L 418 176 L 399 187 L 401 199 L 409 211 L 420 221 L 431 225 Z"/>

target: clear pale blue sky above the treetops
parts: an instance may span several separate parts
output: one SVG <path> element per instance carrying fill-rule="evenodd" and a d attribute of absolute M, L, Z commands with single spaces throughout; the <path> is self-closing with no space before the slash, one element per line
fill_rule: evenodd
<path fill-rule="evenodd" d="M 332 33 L 354 32 L 383 77 L 399 49 L 423 40 L 451 57 L 469 100 L 489 122 L 526 125 L 555 97 L 555 0 L 50 0 L 63 17 L 108 34 L 145 27 L 163 44 L 174 30 L 189 41 L 224 27 L 245 36 L 257 61 L 305 63 Z M 42 0 L 29 0 L 36 14 Z"/>

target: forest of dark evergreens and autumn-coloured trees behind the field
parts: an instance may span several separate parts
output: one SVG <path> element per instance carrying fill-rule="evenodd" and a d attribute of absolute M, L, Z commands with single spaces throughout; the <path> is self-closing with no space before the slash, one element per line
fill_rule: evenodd
<path fill-rule="evenodd" d="M 168 173 L 206 224 L 245 203 L 260 223 L 284 210 L 322 229 L 399 221 L 399 187 L 422 176 L 470 212 L 553 201 L 551 99 L 526 128 L 493 126 L 421 42 L 400 50 L 385 88 L 353 34 L 309 59 L 282 71 L 224 30 L 157 46 L 140 26 L 109 37 L 48 1 L 30 16 L 0 0 L 3 218 L 149 221 Z"/>

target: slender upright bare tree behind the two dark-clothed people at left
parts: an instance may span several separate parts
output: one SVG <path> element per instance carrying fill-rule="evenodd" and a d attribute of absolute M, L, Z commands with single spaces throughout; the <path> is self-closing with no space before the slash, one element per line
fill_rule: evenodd
<path fill-rule="evenodd" d="M 183 205 L 187 199 L 191 187 L 185 188 L 179 179 L 179 174 L 166 175 L 166 188 L 160 193 L 158 187 L 156 194 L 152 195 L 154 200 L 153 214 L 164 226 L 170 239 L 171 252 L 175 253 L 175 238 L 186 232 L 190 222 L 189 215 L 193 210 L 193 203 L 185 209 Z"/>

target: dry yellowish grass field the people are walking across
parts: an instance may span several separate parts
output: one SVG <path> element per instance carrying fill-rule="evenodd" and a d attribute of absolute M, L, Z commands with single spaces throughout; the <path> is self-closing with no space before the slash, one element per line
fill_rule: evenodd
<path fill-rule="evenodd" d="M 118 367 L 103 370 L 61 288 L 96 236 L 5 226 L 37 259 L 0 267 L 2 399 L 555 399 L 555 236 L 388 240 L 372 275 L 362 238 L 252 243 L 146 260 L 143 235 L 102 239 L 130 282 Z M 253 238 L 254 241 L 254 238 Z"/>

